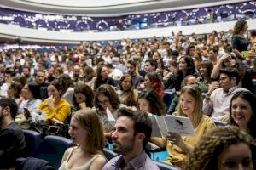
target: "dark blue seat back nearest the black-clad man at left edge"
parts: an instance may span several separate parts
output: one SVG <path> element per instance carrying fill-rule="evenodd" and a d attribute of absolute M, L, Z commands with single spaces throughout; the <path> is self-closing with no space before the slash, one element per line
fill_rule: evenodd
<path fill-rule="evenodd" d="M 37 156 L 41 144 L 41 134 L 32 130 L 23 130 L 26 140 L 26 156 Z"/>

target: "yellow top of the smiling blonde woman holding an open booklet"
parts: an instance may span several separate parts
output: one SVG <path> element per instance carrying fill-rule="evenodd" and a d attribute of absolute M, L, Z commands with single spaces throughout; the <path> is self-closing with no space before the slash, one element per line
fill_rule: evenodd
<path fill-rule="evenodd" d="M 213 127 L 215 127 L 214 122 L 212 122 L 212 120 L 208 116 L 203 115 L 201 118 L 201 122 L 195 128 L 195 136 L 182 137 L 183 141 L 186 144 L 191 144 L 192 146 L 195 146 L 195 144 L 198 143 L 201 136 L 206 134 Z M 172 165 L 175 165 L 177 167 L 183 166 L 184 159 L 186 158 L 186 155 L 183 152 L 183 150 L 181 150 L 177 145 L 167 142 L 166 138 L 163 138 L 163 140 L 166 142 L 166 150 L 169 155 L 165 162 L 171 163 Z"/>

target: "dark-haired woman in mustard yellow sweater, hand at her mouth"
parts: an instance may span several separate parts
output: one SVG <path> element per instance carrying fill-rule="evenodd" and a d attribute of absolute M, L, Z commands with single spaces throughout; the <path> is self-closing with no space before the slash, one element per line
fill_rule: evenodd
<path fill-rule="evenodd" d="M 45 99 L 38 109 L 47 115 L 46 120 L 56 119 L 65 122 L 71 114 L 71 107 L 65 99 L 61 99 L 62 88 L 60 82 L 50 82 L 47 87 L 48 99 Z"/>

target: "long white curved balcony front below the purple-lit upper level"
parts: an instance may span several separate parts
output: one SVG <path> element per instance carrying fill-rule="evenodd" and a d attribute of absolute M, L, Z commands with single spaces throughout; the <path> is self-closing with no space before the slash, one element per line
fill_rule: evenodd
<path fill-rule="evenodd" d="M 194 26 L 175 26 L 166 28 L 154 28 L 136 31 L 111 31 L 111 32 L 71 32 L 46 31 L 45 29 L 30 29 L 20 26 L 0 24 L 0 37 L 16 39 L 20 37 L 22 41 L 29 42 L 49 42 L 49 43 L 79 43 L 80 41 L 108 41 L 120 40 L 123 38 L 139 39 L 149 37 L 170 37 L 172 31 L 183 31 L 183 35 L 211 33 L 216 31 L 229 31 L 236 21 L 218 22 L 212 24 L 201 24 Z M 256 19 L 247 20 L 249 29 L 256 29 Z"/>

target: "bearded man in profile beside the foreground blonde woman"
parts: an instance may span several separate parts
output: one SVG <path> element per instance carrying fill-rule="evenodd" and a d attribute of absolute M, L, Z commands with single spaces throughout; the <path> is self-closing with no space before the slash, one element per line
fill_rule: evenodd
<path fill-rule="evenodd" d="M 151 132 L 152 122 L 146 113 L 136 113 L 126 108 L 119 109 L 112 138 L 113 151 L 120 156 L 108 161 L 103 170 L 159 170 L 144 150 Z"/>

